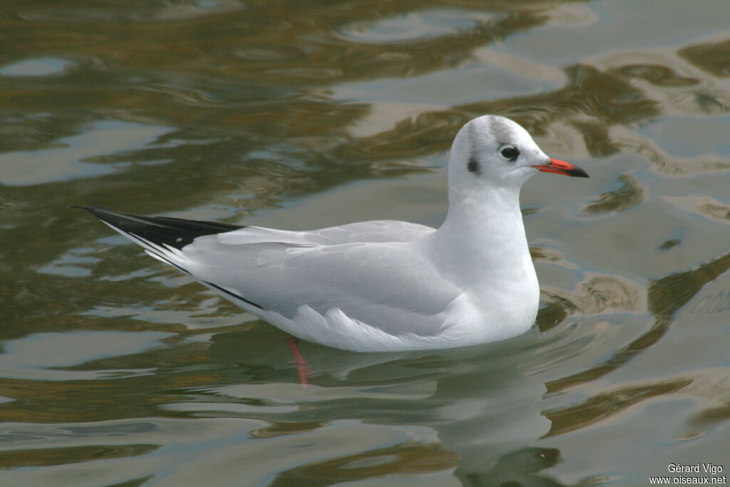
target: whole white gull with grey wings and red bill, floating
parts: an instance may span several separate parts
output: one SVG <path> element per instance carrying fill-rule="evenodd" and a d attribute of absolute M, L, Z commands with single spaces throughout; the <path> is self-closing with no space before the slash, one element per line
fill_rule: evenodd
<path fill-rule="evenodd" d="M 537 275 L 520 188 L 588 177 L 525 129 L 485 115 L 456 134 L 442 226 L 364 221 L 284 231 L 85 207 L 154 258 L 303 340 L 358 351 L 463 347 L 534 324 Z"/>

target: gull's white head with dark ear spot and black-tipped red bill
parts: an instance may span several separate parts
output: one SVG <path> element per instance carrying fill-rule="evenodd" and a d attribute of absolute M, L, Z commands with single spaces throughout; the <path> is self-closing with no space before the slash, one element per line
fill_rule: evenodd
<path fill-rule="evenodd" d="M 451 146 L 449 183 L 455 188 L 519 191 L 538 172 L 588 177 L 580 167 L 548 157 L 522 126 L 499 115 L 470 120 Z"/>

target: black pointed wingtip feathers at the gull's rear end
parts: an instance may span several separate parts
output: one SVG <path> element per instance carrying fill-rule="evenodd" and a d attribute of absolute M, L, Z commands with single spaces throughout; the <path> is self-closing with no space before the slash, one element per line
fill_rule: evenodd
<path fill-rule="evenodd" d="M 72 206 L 86 210 L 104 223 L 123 233 L 141 237 L 157 245 L 169 245 L 177 249 L 204 235 L 220 234 L 242 229 L 240 225 L 216 221 L 185 220 L 166 216 L 139 216 L 118 212 L 104 207 Z"/>

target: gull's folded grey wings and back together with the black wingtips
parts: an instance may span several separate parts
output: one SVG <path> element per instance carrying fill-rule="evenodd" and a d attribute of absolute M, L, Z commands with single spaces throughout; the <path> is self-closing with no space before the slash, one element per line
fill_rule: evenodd
<path fill-rule="evenodd" d="M 337 316 L 373 334 L 429 339 L 461 295 L 414 248 L 414 239 L 434 231 L 415 223 L 282 231 L 86 209 L 150 256 L 277 325 Z"/>

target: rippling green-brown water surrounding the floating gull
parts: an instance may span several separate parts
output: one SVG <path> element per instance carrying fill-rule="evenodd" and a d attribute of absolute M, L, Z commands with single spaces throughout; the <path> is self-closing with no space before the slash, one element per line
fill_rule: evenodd
<path fill-rule="evenodd" d="M 730 469 L 730 5 L 5 1 L 2 486 L 592 486 Z M 523 189 L 515 340 L 287 335 L 72 204 L 438 226 L 458 128 L 589 180 Z M 669 464 L 725 471 L 672 473 Z"/>

